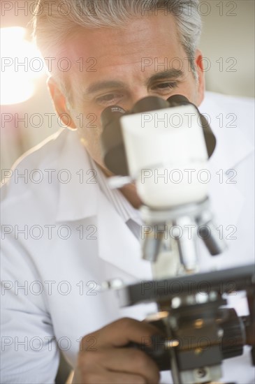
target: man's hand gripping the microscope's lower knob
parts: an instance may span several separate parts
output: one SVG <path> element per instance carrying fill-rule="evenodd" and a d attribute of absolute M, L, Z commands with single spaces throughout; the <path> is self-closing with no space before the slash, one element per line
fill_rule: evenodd
<path fill-rule="evenodd" d="M 156 384 L 159 369 L 142 350 L 123 348 L 131 341 L 150 346 L 159 333 L 153 325 L 122 318 L 82 338 L 73 383 Z"/>

